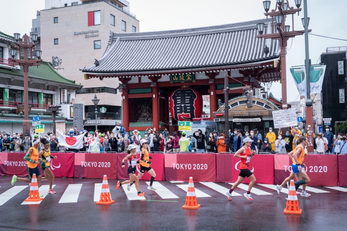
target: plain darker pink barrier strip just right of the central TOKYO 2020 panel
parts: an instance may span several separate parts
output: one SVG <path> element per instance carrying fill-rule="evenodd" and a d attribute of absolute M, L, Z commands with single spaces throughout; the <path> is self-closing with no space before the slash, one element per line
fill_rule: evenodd
<path fill-rule="evenodd" d="M 233 158 L 233 156 L 234 154 L 231 154 L 231 153 L 216 154 L 217 182 L 232 182 L 231 159 Z"/>

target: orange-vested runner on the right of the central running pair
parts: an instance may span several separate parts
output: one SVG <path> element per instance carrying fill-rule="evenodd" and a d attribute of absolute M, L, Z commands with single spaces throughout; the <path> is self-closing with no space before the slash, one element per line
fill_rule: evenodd
<path fill-rule="evenodd" d="M 140 179 L 143 175 L 143 173 L 145 173 L 145 171 L 147 171 L 152 177 L 151 177 L 151 183 L 149 184 L 149 186 L 147 187 L 147 189 L 149 190 L 157 190 L 153 187 L 153 181 L 154 181 L 154 177 L 156 177 L 156 173 L 154 172 L 154 170 L 150 167 L 150 165 L 152 164 L 152 161 L 149 161 L 149 159 L 152 159 L 152 157 L 149 156 L 149 152 L 147 150 L 147 140 L 145 139 L 141 139 L 140 143 L 142 145 L 142 149 L 141 149 L 141 160 L 140 160 L 140 172 L 137 175 L 137 178 Z"/>

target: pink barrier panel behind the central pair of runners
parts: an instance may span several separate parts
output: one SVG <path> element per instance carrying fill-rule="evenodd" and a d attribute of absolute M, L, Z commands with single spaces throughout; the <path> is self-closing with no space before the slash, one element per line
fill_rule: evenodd
<path fill-rule="evenodd" d="M 125 167 L 121 168 L 121 163 L 122 160 L 124 159 L 124 157 L 126 157 L 126 155 L 128 155 L 127 153 L 118 153 L 117 154 L 117 166 L 118 166 L 118 171 L 117 171 L 117 178 L 118 179 L 129 179 L 128 176 L 128 163 L 127 161 L 124 162 Z M 137 159 L 140 160 L 140 154 L 137 153 Z M 156 173 L 156 180 L 164 180 L 164 154 L 149 154 L 152 159 L 150 159 L 150 161 L 152 161 L 151 164 L 151 168 L 154 170 L 154 172 Z M 136 175 L 138 174 L 138 172 L 140 171 L 140 167 L 137 165 L 136 167 Z M 141 177 L 141 180 L 150 180 L 151 179 L 151 175 L 148 174 L 147 172 L 145 172 L 143 174 L 143 176 Z"/>

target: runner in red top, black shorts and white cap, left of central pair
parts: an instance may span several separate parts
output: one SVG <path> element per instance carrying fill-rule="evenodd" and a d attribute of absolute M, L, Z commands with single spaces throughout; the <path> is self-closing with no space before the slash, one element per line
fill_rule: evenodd
<path fill-rule="evenodd" d="M 122 163 L 121 163 L 121 167 L 124 168 L 125 167 L 125 161 L 127 160 L 128 161 L 128 175 L 130 176 L 130 179 L 128 180 L 124 180 L 123 182 L 117 182 L 117 186 L 116 188 L 119 189 L 120 185 L 122 184 L 127 184 L 126 185 L 126 189 L 128 191 L 130 191 L 130 182 L 135 182 L 135 187 L 136 187 L 136 191 L 137 191 L 137 195 L 138 196 L 144 196 L 145 193 L 144 192 L 141 192 L 140 191 L 140 188 L 139 188 L 139 180 L 135 174 L 135 171 L 136 171 L 136 164 L 137 164 L 137 158 L 136 158 L 136 146 L 133 145 L 133 144 L 130 144 L 129 147 L 128 147 L 128 155 L 126 155 L 126 157 L 124 157 L 124 159 L 122 160 Z"/>

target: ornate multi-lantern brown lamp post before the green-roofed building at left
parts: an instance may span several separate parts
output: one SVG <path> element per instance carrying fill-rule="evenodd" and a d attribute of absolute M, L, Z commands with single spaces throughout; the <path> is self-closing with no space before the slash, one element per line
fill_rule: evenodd
<path fill-rule="evenodd" d="M 22 41 L 20 40 L 20 34 L 14 33 L 14 41 L 15 41 L 15 48 L 16 49 L 10 49 L 11 57 L 10 60 L 13 61 L 14 65 L 21 65 L 23 66 L 23 74 L 24 74 L 24 120 L 23 120 L 23 133 L 29 134 L 30 133 L 30 122 L 29 122 L 29 83 L 28 83 L 28 70 L 29 66 L 37 66 L 40 65 L 41 54 L 42 51 L 35 51 L 36 43 L 37 43 L 37 35 L 32 34 L 31 37 L 27 36 L 26 34 L 23 35 Z M 19 50 L 19 58 L 16 58 L 17 49 Z M 23 59 L 21 57 L 21 54 L 23 52 Z M 28 59 L 28 56 L 30 54 L 30 59 Z M 37 59 L 35 59 L 36 57 Z"/>

